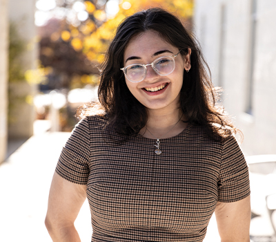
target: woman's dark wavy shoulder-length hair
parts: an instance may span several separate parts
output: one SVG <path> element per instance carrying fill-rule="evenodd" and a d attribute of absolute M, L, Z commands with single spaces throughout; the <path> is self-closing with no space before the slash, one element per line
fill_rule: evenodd
<path fill-rule="evenodd" d="M 228 120 L 224 110 L 217 106 L 217 93 L 210 80 L 206 64 L 193 35 L 181 21 L 161 8 L 150 8 L 127 17 L 118 26 L 101 65 L 99 102 L 105 110 L 108 124 L 126 135 L 138 133 L 146 125 L 148 112 L 128 90 L 123 71 L 124 52 L 130 39 L 147 30 L 153 30 L 172 46 L 181 50 L 181 55 L 190 55 L 191 68 L 184 71 L 179 107 L 188 122 L 204 127 L 208 136 L 224 140 L 237 129 Z M 207 71 L 206 71 L 207 70 Z"/>

